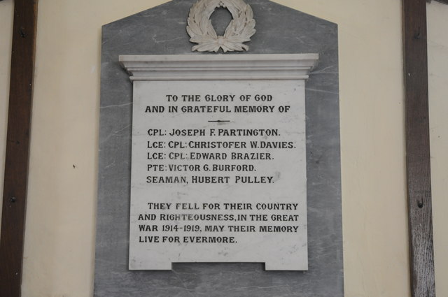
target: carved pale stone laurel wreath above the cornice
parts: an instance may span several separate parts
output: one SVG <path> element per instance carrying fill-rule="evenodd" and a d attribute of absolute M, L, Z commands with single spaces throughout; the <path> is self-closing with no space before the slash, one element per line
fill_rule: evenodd
<path fill-rule="evenodd" d="M 227 8 L 232 13 L 232 21 L 223 36 L 218 36 L 211 24 L 210 16 L 216 8 Z M 188 35 L 190 41 L 197 43 L 193 52 L 224 52 L 248 50 L 243 43 L 251 41 L 255 34 L 255 20 L 251 6 L 243 0 L 199 0 L 190 9 L 188 15 Z"/>

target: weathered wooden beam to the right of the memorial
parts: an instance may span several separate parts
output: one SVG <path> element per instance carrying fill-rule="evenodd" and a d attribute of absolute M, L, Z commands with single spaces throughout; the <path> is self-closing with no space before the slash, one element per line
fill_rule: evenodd
<path fill-rule="evenodd" d="M 403 0 L 403 29 L 411 290 L 434 297 L 425 0 Z"/>

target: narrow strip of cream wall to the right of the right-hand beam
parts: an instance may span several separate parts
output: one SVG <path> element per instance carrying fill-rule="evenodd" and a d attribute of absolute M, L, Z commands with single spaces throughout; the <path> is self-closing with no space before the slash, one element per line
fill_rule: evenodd
<path fill-rule="evenodd" d="M 445 29 L 444 29 L 445 28 Z M 448 296 L 448 5 L 428 5 L 428 74 L 435 283 Z"/>

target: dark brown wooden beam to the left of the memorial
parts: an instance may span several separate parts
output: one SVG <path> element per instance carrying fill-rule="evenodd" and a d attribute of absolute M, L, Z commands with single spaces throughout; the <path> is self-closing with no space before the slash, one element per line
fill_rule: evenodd
<path fill-rule="evenodd" d="M 20 297 L 37 0 L 15 0 L 0 238 L 0 296 Z"/>

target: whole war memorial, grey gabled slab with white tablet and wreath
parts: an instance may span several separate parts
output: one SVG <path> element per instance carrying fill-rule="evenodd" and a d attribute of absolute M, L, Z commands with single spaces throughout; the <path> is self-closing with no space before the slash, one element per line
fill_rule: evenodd
<path fill-rule="evenodd" d="M 342 297 L 337 26 L 174 0 L 102 35 L 94 296 Z"/>

